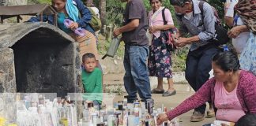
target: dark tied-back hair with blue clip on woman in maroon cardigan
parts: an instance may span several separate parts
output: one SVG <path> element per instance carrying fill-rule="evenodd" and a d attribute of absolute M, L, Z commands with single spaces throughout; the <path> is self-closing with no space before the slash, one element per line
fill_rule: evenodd
<path fill-rule="evenodd" d="M 240 69 L 239 58 L 235 49 L 231 46 L 220 47 L 220 51 L 213 56 L 212 61 L 220 66 L 220 69 L 224 72 L 235 72 Z"/>

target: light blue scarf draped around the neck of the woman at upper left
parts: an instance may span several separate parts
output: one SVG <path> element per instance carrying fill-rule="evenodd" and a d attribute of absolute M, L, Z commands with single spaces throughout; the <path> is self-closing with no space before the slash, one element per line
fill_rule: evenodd
<path fill-rule="evenodd" d="M 79 20 L 78 17 L 78 9 L 77 6 L 73 4 L 73 0 L 67 0 L 66 1 L 66 12 L 69 14 L 70 18 L 73 19 L 73 21 Z"/>

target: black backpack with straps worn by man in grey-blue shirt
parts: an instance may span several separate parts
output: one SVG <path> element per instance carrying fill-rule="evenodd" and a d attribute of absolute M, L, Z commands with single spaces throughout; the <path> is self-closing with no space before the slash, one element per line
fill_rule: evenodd
<path fill-rule="evenodd" d="M 204 10 L 203 10 L 204 3 L 205 3 L 205 1 L 199 2 L 199 9 L 201 11 L 202 19 L 204 19 L 204 17 L 205 17 Z M 217 46 L 220 46 L 220 45 L 228 43 L 228 41 L 229 41 L 228 34 L 227 34 L 228 30 L 226 28 L 224 28 L 223 26 L 221 26 L 221 23 L 218 22 L 218 20 L 220 21 L 220 18 L 218 16 L 218 14 L 216 13 L 216 9 L 214 7 L 213 7 L 213 13 L 214 13 L 214 16 L 216 17 L 217 22 L 215 24 L 215 35 L 211 41 L 216 43 Z"/>

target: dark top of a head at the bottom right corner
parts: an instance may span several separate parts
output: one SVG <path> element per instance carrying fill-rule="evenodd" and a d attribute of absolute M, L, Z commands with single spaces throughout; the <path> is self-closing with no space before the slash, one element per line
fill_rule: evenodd
<path fill-rule="evenodd" d="M 247 113 L 236 122 L 235 126 L 256 126 L 256 113 Z"/>

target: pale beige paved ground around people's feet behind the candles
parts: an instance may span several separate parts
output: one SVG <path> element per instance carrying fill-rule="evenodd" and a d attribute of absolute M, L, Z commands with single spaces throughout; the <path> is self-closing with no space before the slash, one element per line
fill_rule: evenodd
<path fill-rule="evenodd" d="M 122 82 L 122 76 L 123 74 L 117 74 L 117 75 L 106 75 L 104 76 L 104 83 L 107 84 L 119 84 Z M 167 89 L 168 85 L 164 84 L 164 88 Z M 183 102 L 186 98 L 190 97 L 194 94 L 194 91 L 191 90 L 190 86 L 187 83 L 175 83 L 175 89 L 177 91 L 177 94 L 170 97 L 162 97 L 162 95 L 152 95 L 152 98 L 155 100 L 155 107 L 159 108 L 164 104 L 164 106 L 167 106 L 169 109 L 170 107 L 178 106 L 179 103 Z M 114 101 L 122 100 L 123 95 L 115 95 Z M 209 109 L 209 107 L 207 107 Z M 215 120 L 215 118 L 210 118 L 203 120 L 202 122 L 198 123 L 192 123 L 190 122 L 190 116 L 192 115 L 193 110 L 190 110 L 187 113 L 184 113 L 183 115 L 179 116 L 179 121 L 182 126 L 201 126 L 203 124 L 209 124 Z M 206 112 L 205 112 L 206 113 Z"/>

